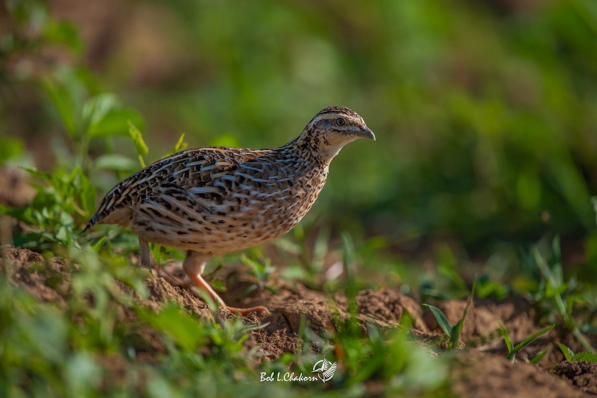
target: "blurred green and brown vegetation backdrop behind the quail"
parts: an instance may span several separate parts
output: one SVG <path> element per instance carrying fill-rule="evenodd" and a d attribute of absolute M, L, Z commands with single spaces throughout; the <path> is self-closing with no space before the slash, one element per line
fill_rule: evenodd
<path fill-rule="evenodd" d="M 593 0 L 0 6 L 0 158 L 51 170 L 89 151 L 99 196 L 118 182 L 106 170 L 139 168 L 126 119 L 153 160 L 182 132 L 190 147 L 279 146 L 328 105 L 377 141 L 340 153 L 308 221 L 407 254 L 559 233 L 597 267 Z M 94 124 L 102 106 L 113 118 Z"/>

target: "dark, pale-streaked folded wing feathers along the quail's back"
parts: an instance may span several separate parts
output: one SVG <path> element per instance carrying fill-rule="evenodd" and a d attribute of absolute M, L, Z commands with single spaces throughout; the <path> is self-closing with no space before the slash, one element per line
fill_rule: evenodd
<path fill-rule="evenodd" d="M 267 149 L 211 147 L 175 153 L 113 187 L 101 201 L 85 230 L 96 223 L 128 226 L 134 209 L 153 213 L 153 218 L 158 216 L 157 211 L 159 215 L 167 214 L 174 219 L 183 217 L 183 212 L 191 207 L 196 211 L 205 210 L 201 199 L 208 198 L 210 189 L 205 187 L 210 185 L 214 177 L 233 171 L 241 163 L 269 152 Z M 201 189 L 204 195 L 198 195 Z"/>

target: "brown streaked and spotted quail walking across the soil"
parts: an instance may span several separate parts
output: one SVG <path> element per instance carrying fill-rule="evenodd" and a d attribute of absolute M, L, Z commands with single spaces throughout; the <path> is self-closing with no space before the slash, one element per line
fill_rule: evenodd
<path fill-rule="evenodd" d="M 141 264 L 149 268 L 147 242 L 187 249 L 184 271 L 225 306 L 201 278 L 207 260 L 287 233 L 315 202 L 331 159 L 359 137 L 375 139 L 361 116 L 327 107 L 279 148 L 176 153 L 113 187 L 85 230 L 97 223 L 130 227 L 139 235 Z"/>

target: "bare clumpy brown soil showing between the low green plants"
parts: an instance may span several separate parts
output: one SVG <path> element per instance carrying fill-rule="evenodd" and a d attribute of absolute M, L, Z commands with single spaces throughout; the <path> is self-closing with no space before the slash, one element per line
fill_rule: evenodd
<path fill-rule="evenodd" d="M 22 286 L 38 300 L 56 303 L 61 306 L 70 289 L 67 266 L 60 258 L 45 261 L 38 253 L 27 249 L 5 248 L 0 251 L 0 266 L 16 285 Z M 65 276 L 66 273 L 66 276 Z M 61 274 L 60 283 L 56 283 L 56 275 Z M 322 292 L 313 291 L 297 284 L 291 286 L 287 282 L 279 282 L 277 292 L 267 289 L 254 291 L 248 297 L 234 302 L 238 292 L 244 291 L 249 283 L 253 283 L 247 274 L 237 273 L 230 278 L 226 297 L 230 304 L 238 306 L 267 306 L 269 315 L 251 314 L 244 317 L 244 322 L 262 324 L 269 322 L 263 329 L 251 332 L 247 340 L 250 347 L 260 347 L 263 358 L 275 359 L 284 353 L 293 353 L 297 349 L 298 329 L 301 315 L 304 314 L 310 328 L 317 334 L 333 328 L 334 314 L 347 317 L 347 303 L 343 297 L 328 297 Z M 141 306 L 157 309 L 168 302 L 201 317 L 213 318 L 214 314 L 195 295 L 158 276 L 149 276 L 146 280 L 149 297 L 135 297 Z M 124 284 L 119 288 L 127 294 L 131 289 Z M 381 289 L 378 291 L 361 291 L 357 297 L 359 319 L 374 322 L 381 328 L 398 326 L 405 313 L 413 318 L 414 335 L 421 344 L 441 346 L 442 333 L 433 316 L 423 314 L 421 306 L 412 298 L 397 291 Z M 463 301 L 442 303 L 441 309 L 447 314 L 451 323 L 455 323 L 466 304 Z M 234 317 L 225 309 L 220 309 L 223 319 Z M 476 300 L 469 310 L 464 323 L 463 342 L 469 348 L 458 354 L 460 366 L 454 366 L 452 377 L 454 390 L 464 397 L 584 397 L 597 394 L 597 366 L 583 362 L 566 362 L 552 349 L 549 359 L 540 365 L 529 365 L 522 360 L 510 363 L 505 359 L 505 348 L 501 337 L 496 333 L 497 322 L 501 322 L 511 333 L 513 341 L 522 340 L 538 327 L 534 325 L 533 308 L 524 300 L 509 300 L 500 303 Z M 136 314 L 128 308 L 121 308 L 122 320 L 134 323 Z M 159 353 L 165 353 L 161 340 L 155 338 L 153 329 L 131 328 L 131 333 L 144 343 L 141 344 L 140 357 L 146 362 L 156 362 Z M 559 339 L 558 341 L 562 341 Z M 533 356 L 546 345 L 553 345 L 555 338 L 536 341 L 528 349 L 528 356 Z M 524 357 L 522 353 L 519 357 Z M 110 360 L 110 359 L 106 359 Z M 553 370 L 551 360 L 559 362 Z M 118 369 L 118 366 L 112 366 Z M 116 370 L 117 371 L 117 370 Z"/>

